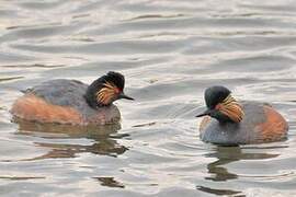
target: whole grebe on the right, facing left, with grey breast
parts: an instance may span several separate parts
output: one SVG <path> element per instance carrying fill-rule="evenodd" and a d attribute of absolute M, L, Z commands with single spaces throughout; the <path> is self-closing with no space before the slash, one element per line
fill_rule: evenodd
<path fill-rule="evenodd" d="M 248 144 L 278 141 L 286 138 L 288 125 L 271 105 L 260 102 L 238 102 L 225 86 L 205 91 L 207 109 L 200 125 L 203 141 L 218 144 Z"/>

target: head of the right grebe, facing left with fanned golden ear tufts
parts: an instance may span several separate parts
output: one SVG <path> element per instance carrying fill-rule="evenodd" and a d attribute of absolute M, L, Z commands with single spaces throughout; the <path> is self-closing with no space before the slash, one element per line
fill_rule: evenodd
<path fill-rule="evenodd" d="M 205 91 L 207 109 L 196 117 L 210 116 L 219 123 L 239 123 L 243 118 L 241 105 L 231 96 L 225 86 L 210 86 Z"/>

